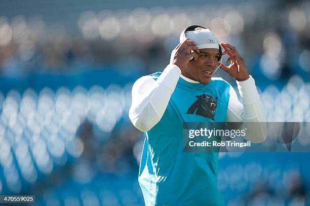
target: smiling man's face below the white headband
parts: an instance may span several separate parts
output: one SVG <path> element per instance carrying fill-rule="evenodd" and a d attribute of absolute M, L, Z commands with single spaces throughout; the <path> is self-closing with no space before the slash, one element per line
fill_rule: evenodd
<path fill-rule="evenodd" d="M 218 66 L 218 49 L 200 49 L 198 59 L 189 61 L 182 74 L 187 78 L 199 81 L 201 84 L 210 83 L 214 70 Z"/>

